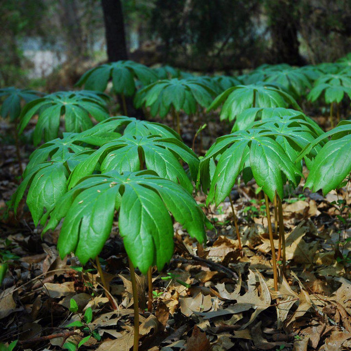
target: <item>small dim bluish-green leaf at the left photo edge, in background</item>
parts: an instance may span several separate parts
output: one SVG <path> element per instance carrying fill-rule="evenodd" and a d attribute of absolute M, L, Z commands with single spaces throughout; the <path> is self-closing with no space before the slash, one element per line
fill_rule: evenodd
<path fill-rule="evenodd" d="M 30 89 L 17 89 L 15 87 L 0 89 L 0 98 L 6 97 L 1 104 L 1 117 L 10 117 L 10 120 L 14 121 L 20 116 L 21 101 L 28 103 L 39 98 L 40 95 L 41 93 Z"/>

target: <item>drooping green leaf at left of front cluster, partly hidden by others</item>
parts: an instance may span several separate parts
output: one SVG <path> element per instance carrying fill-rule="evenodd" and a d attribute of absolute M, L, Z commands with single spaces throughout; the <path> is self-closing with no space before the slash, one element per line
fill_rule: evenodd
<path fill-rule="evenodd" d="M 37 226 L 45 210 L 48 211 L 67 192 L 68 176 L 84 157 L 84 154 L 67 154 L 66 159 L 42 162 L 33 167 L 12 195 L 9 207 L 13 207 L 16 214 L 20 200 L 29 188 L 26 203 Z"/>

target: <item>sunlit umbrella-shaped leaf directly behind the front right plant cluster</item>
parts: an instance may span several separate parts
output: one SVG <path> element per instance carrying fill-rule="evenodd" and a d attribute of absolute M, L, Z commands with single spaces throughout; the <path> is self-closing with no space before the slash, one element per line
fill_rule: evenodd
<path fill-rule="evenodd" d="M 260 83 L 255 85 L 237 85 L 227 89 L 212 102 L 208 111 L 223 104 L 220 119 L 234 120 L 244 110 L 251 107 L 289 107 L 301 110 L 297 102 L 275 85 Z"/>

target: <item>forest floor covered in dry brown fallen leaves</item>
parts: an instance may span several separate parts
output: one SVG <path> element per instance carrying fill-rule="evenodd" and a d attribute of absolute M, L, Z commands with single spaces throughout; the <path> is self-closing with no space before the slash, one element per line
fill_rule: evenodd
<path fill-rule="evenodd" d="M 229 131 L 221 130 L 216 118 L 207 123 L 202 147 L 196 141 L 195 151 L 202 155 L 216 136 Z M 197 127 L 184 117 L 183 138 L 189 146 Z M 0 134 L 9 135 L 5 123 Z M 23 166 L 31 151 L 22 146 Z M 25 203 L 17 216 L 6 215 L 6 201 L 19 182 L 15 147 L 4 143 L 0 259 L 7 262 L 9 271 L 0 290 L 0 342 L 19 340 L 18 350 L 61 350 L 65 342 L 78 344 L 96 330 L 99 336 L 90 337 L 80 350 L 129 350 L 133 297 L 117 221 L 100 255 L 110 300 L 116 305 L 113 309 L 95 262 L 82 268 L 74 256 L 60 259 L 58 232 L 41 237 Z M 256 184 L 239 182 L 232 192 L 241 253 L 229 199 L 207 209 L 205 195 L 197 194 L 215 230 L 208 231 L 207 245 L 201 247 L 175 224 L 174 257 L 162 272 L 153 273 L 151 313 L 146 312 L 147 283 L 139 276 L 141 351 L 351 350 L 351 190 L 342 188 L 322 196 L 303 190 L 303 183 L 295 192 L 285 190 L 288 264 L 283 275 L 278 262 L 278 292 L 273 289 L 264 201 Z M 341 199 L 344 202 L 338 202 Z M 273 206 L 271 214 L 274 231 Z M 71 299 L 77 302 L 77 313 L 69 311 Z M 87 329 L 66 327 L 80 321 L 88 307 L 93 317 L 85 323 Z"/>

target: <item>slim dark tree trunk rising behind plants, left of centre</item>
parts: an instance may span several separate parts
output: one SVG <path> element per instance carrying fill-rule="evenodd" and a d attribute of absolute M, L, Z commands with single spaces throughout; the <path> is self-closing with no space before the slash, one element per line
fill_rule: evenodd
<path fill-rule="evenodd" d="M 109 62 L 128 59 L 122 4 L 120 0 L 101 0 Z"/>

